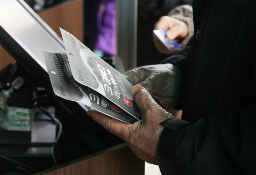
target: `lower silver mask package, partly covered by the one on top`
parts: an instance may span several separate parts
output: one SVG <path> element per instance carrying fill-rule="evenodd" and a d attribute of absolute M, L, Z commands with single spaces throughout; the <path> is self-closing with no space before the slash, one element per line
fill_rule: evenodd
<path fill-rule="evenodd" d="M 42 51 L 54 93 L 67 100 L 81 102 L 110 117 L 126 123 L 138 121 L 105 96 L 90 87 L 78 83 L 70 69 L 66 53 Z M 85 78 L 85 77 L 84 77 Z"/>

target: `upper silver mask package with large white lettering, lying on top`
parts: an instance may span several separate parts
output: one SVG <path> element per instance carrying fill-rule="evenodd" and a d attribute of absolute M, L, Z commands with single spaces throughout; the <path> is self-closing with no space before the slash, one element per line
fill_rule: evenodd
<path fill-rule="evenodd" d="M 60 29 L 74 79 L 118 104 L 137 120 L 140 112 L 132 98 L 131 83 L 72 34 Z"/>

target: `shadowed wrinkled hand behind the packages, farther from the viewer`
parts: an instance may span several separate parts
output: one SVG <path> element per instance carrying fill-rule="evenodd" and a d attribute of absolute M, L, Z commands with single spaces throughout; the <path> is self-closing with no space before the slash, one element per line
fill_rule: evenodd
<path fill-rule="evenodd" d="M 124 77 L 142 85 L 152 96 L 159 98 L 166 110 L 180 100 L 183 77 L 172 64 L 138 67 L 124 73 Z"/>

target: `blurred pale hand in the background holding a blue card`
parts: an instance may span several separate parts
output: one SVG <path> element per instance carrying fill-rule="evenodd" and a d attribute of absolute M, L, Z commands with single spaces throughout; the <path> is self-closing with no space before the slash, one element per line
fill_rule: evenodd
<path fill-rule="evenodd" d="M 155 29 L 162 29 L 166 31 L 166 37 L 169 39 L 176 39 L 178 43 L 188 35 L 188 25 L 182 21 L 170 16 L 162 16 L 155 24 Z M 168 50 L 164 44 L 153 34 L 154 44 L 160 53 L 170 54 L 177 50 Z"/>

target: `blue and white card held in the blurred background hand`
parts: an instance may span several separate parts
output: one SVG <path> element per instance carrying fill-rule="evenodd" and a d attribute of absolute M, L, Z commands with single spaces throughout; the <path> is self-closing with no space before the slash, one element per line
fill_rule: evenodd
<path fill-rule="evenodd" d="M 167 30 L 153 30 L 155 35 L 160 39 L 160 41 L 164 44 L 164 46 L 168 50 L 178 50 L 181 49 L 181 46 L 175 39 L 169 39 L 166 37 L 166 31 Z"/>

